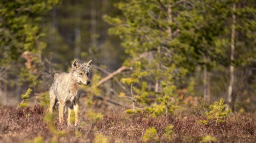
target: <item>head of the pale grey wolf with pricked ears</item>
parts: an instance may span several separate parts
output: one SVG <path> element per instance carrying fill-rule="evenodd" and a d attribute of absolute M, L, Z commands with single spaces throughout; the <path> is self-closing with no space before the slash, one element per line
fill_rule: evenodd
<path fill-rule="evenodd" d="M 83 64 L 78 63 L 78 61 L 75 60 L 72 64 L 72 69 L 71 69 L 73 79 L 76 82 L 82 83 L 84 85 L 90 84 L 90 80 L 88 76 L 90 74 L 91 65 L 92 65 L 92 60 L 89 61 L 88 63 L 83 63 Z"/>

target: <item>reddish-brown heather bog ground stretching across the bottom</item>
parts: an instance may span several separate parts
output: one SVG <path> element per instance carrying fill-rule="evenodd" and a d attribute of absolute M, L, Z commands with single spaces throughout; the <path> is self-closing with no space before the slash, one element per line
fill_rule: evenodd
<path fill-rule="evenodd" d="M 44 108 L 13 108 L 0 106 L 0 142 L 202 142 L 206 135 L 216 142 L 255 142 L 256 121 L 254 114 L 239 114 L 229 117 L 226 123 L 198 124 L 202 117 L 169 115 L 157 118 L 104 115 L 99 121 L 81 117 L 80 127 L 58 124 L 54 115 L 49 126 L 44 120 Z M 173 125 L 172 133 L 166 134 L 166 127 Z M 146 130 L 154 127 L 156 134 L 145 140 Z M 53 129 L 55 128 L 55 129 Z M 59 132 L 62 131 L 62 132 Z"/>

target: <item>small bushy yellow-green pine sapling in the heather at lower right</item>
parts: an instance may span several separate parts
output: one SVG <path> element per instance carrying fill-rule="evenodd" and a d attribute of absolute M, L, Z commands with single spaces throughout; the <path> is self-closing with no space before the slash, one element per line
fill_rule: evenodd
<path fill-rule="evenodd" d="M 228 114 L 231 111 L 230 109 L 224 110 L 227 104 L 224 104 L 224 99 L 221 98 L 219 102 L 214 102 L 210 105 L 210 111 L 206 113 L 207 120 L 199 120 L 199 123 L 208 125 L 209 123 L 215 122 L 224 123 L 228 118 Z"/>

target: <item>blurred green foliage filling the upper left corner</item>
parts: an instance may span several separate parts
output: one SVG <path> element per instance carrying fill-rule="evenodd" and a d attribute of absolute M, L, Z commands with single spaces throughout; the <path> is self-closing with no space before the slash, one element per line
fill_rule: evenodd
<path fill-rule="evenodd" d="M 0 2 L 0 49 L 1 56 L 17 59 L 24 51 L 36 53 L 38 48 L 45 47 L 38 39 L 41 33 L 40 23 L 48 11 L 60 1 L 1 1 Z"/>

